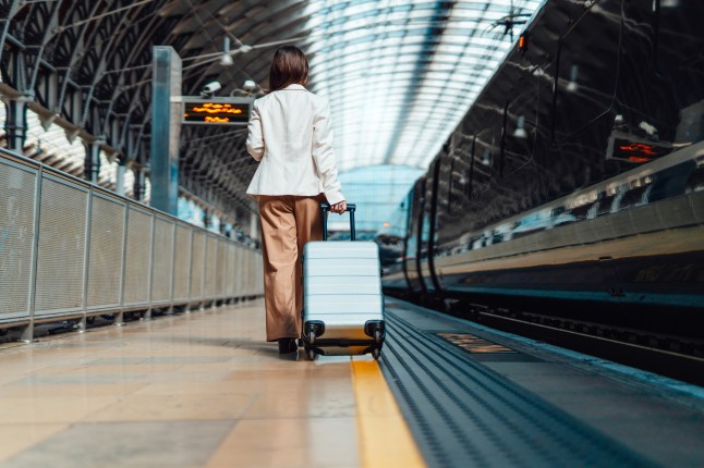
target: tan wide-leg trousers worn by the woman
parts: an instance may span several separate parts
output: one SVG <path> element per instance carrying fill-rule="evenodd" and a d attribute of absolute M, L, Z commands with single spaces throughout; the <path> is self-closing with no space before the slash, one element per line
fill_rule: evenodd
<path fill-rule="evenodd" d="M 259 196 L 264 303 L 269 342 L 301 336 L 301 256 L 306 242 L 323 239 L 320 201 L 325 201 L 324 195 Z"/>

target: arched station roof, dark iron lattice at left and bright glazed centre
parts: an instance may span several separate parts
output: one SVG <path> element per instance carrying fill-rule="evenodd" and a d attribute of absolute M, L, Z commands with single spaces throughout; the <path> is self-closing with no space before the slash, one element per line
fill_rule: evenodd
<path fill-rule="evenodd" d="M 219 81 L 266 89 L 294 44 L 331 104 L 341 171 L 424 168 L 542 0 L 0 0 L 0 93 L 46 125 L 148 168 L 151 48 L 183 59 L 183 94 Z M 227 39 L 226 39 L 227 38 Z M 226 40 L 233 64 L 220 63 Z M 184 126 L 181 185 L 226 211 L 247 205 L 242 127 Z"/>

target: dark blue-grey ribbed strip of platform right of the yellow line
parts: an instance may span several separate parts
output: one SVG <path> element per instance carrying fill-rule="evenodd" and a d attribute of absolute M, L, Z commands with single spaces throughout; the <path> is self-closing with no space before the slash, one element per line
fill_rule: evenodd
<path fill-rule="evenodd" d="M 429 466 L 652 466 L 486 368 L 475 359 L 482 354 L 421 332 L 395 311 L 386 323 L 379 362 Z"/>

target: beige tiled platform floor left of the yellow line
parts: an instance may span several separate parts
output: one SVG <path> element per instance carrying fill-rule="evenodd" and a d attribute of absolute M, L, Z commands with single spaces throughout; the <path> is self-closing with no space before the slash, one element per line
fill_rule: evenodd
<path fill-rule="evenodd" d="M 376 420 L 404 430 L 388 390 L 355 391 L 355 364 L 385 385 L 371 358 L 280 356 L 265 342 L 263 309 L 196 311 L 0 350 L 0 466 L 390 466 L 364 452 L 379 435 L 414 453 L 403 446 L 410 440 L 385 442 L 395 432 L 374 429 Z"/>

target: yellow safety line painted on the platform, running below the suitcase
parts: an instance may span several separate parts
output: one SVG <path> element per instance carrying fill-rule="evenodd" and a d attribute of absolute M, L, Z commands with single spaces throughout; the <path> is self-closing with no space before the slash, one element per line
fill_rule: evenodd
<path fill-rule="evenodd" d="M 352 380 L 362 467 L 425 467 L 377 362 L 353 357 Z"/>

